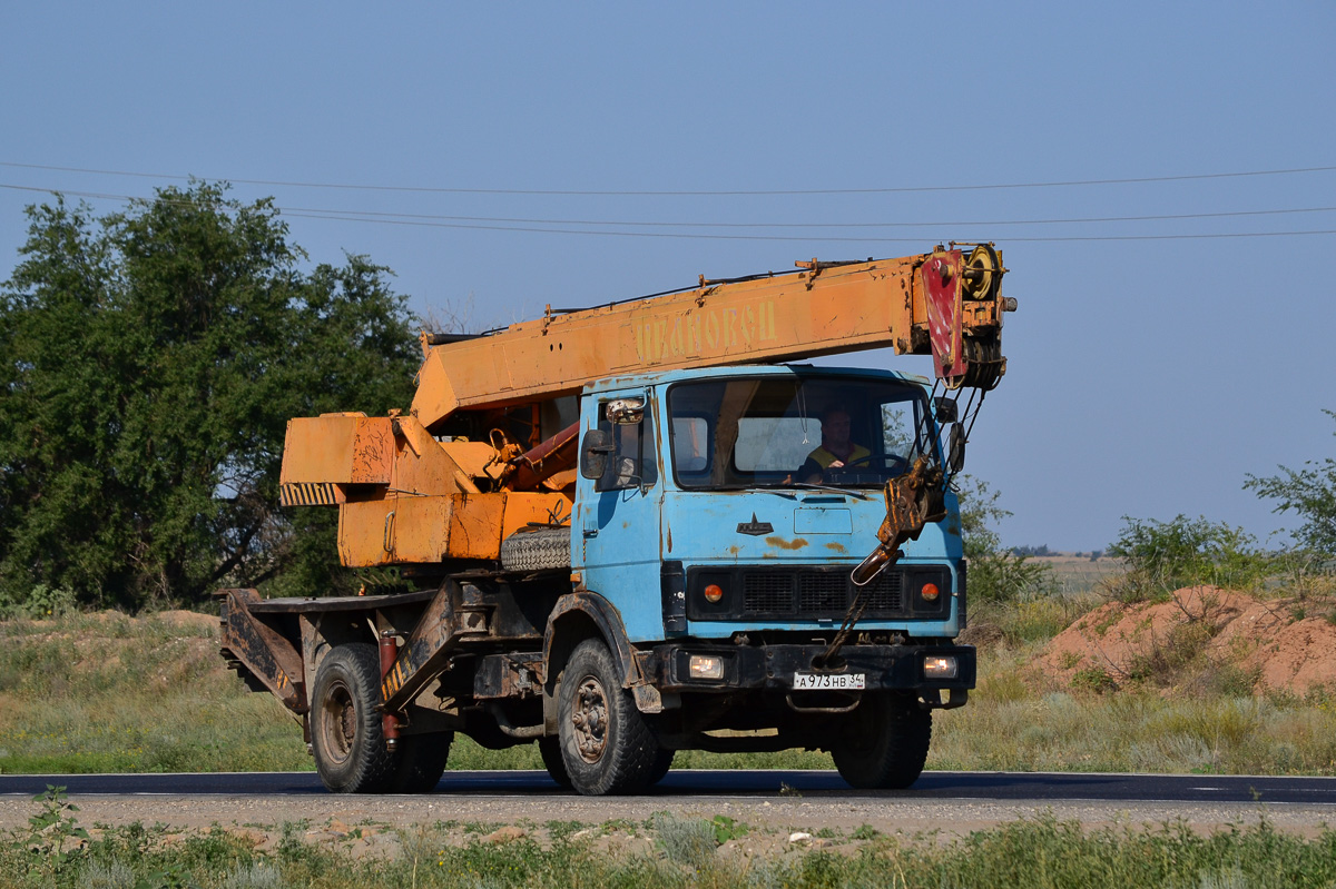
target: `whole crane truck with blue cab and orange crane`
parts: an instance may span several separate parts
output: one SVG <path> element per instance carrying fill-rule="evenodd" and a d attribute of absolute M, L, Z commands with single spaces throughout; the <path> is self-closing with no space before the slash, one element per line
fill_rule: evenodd
<path fill-rule="evenodd" d="M 338 509 L 358 595 L 219 590 L 222 655 L 326 788 L 421 793 L 454 734 L 581 794 L 676 750 L 918 780 L 975 653 L 950 479 L 1002 378 L 991 244 L 422 332 L 411 406 L 293 419 L 285 506 Z M 890 348 L 935 379 L 807 359 Z"/>

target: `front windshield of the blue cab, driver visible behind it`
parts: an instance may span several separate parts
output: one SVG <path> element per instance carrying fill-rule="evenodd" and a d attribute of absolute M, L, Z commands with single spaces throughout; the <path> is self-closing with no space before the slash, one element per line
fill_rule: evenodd
<path fill-rule="evenodd" d="M 673 474 L 683 489 L 880 487 L 931 451 L 912 383 L 850 376 L 743 376 L 668 390 Z"/>

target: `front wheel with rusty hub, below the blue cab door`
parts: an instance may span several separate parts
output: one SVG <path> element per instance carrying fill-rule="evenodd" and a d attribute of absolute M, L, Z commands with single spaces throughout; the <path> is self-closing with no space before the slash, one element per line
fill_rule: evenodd
<path fill-rule="evenodd" d="M 600 639 L 585 639 L 570 653 L 557 690 L 557 729 L 578 793 L 601 797 L 649 786 L 659 744 Z"/>

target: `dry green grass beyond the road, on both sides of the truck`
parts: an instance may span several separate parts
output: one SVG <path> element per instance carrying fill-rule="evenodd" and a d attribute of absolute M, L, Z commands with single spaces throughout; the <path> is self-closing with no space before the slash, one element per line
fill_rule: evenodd
<path fill-rule="evenodd" d="M 1307 599 L 1313 607 L 1317 601 Z M 930 769 L 1336 774 L 1336 698 L 1253 697 L 1246 677 L 1196 663 L 1181 685 L 1086 677 L 1059 686 L 1043 643 L 1093 599 L 981 607 L 998 627 L 969 706 L 935 714 Z M 0 772 L 307 770 L 295 719 L 246 691 L 214 629 L 73 614 L 0 623 Z M 1196 670 L 1196 671 L 1193 671 Z M 541 769 L 534 745 L 457 737 L 450 769 Z M 826 753 L 679 752 L 677 769 L 830 769 Z"/>

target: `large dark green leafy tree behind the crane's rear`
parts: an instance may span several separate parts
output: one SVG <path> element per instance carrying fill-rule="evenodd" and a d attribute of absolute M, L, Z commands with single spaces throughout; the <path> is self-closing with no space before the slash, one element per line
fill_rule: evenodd
<path fill-rule="evenodd" d="M 192 183 L 95 219 L 29 207 L 0 284 L 0 601 L 318 591 L 333 515 L 277 511 L 286 422 L 411 398 L 405 299 L 363 256 L 299 268 L 271 200 Z"/>

